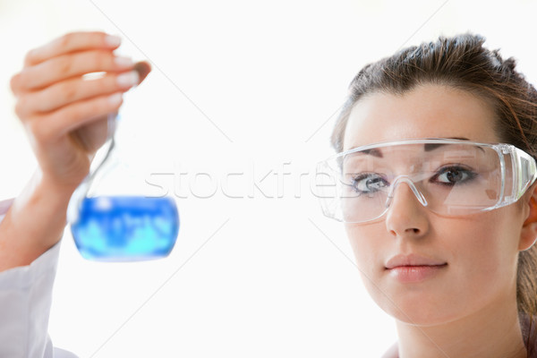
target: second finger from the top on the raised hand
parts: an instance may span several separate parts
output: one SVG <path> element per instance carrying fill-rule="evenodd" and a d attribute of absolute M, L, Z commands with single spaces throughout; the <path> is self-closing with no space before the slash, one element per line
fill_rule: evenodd
<path fill-rule="evenodd" d="M 119 72 L 132 69 L 134 63 L 128 57 L 115 56 L 109 51 L 86 51 L 61 55 L 44 63 L 28 67 L 13 84 L 14 92 L 39 90 L 55 82 L 90 72 Z"/>

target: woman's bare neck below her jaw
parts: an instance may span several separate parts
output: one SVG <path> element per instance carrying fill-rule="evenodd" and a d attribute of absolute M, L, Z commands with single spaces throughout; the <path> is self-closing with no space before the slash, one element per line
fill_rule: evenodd
<path fill-rule="evenodd" d="M 461 320 L 435 326 L 397 321 L 400 358 L 525 358 L 516 301 L 508 310 L 491 305 Z"/>

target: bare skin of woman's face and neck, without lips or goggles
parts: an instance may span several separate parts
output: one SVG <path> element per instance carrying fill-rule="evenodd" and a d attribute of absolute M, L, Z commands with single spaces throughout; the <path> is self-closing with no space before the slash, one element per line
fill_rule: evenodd
<path fill-rule="evenodd" d="M 481 98 L 445 86 L 422 85 L 403 95 L 374 93 L 354 107 L 344 150 L 416 138 L 499 142 L 494 120 Z M 387 215 L 372 223 L 345 224 L 366 288 L 396 319 L 401 358 L 525 357 L 516 263 L 518 252 L 537 237 L 535 196 L 531 188 L 501 209 L 439 217 L 402 184 Z M 399 282 L 385 264 L 409 253 L 447 266 L 422 282 Z"/>

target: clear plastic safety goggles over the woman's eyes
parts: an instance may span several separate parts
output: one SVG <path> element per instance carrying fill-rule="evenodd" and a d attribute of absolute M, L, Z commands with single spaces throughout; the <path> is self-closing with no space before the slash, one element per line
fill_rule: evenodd
<path fill-rule="evenodd" d="M 518 200 L 537 178 L 535 159 L 510 144 L 426 139 L 351 149 L 317 166 L 323 213 L 348 223 L 382 217 L 400 184 L 441 216 L 464 216 Z"/>

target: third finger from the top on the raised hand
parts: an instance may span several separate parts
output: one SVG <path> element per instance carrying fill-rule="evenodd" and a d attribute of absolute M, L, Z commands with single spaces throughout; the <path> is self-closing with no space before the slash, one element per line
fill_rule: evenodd
<path fill-rule="evenodd" d="M 82 99 L 94 98 L 112 94 L 117 91 L 125 92 L 140 82 L 137 71 L 108 73 L 96 80 L 73 78 L 55 83 L 45 90 L 22 94 L 15 106 L 19 117 L 32 114 L 44 114 Z"/>

